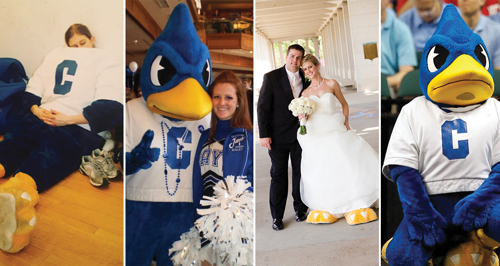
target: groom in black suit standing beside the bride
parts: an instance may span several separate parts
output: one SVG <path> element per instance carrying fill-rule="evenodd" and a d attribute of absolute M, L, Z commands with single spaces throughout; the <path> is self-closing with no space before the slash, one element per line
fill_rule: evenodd
<path fill-rule="evenodd" d="M 300 199 L 300 158 L 302 149 L 297 141 L 298 118 L 288 110 L 292 99 L 300 97 L 308 86 L 299 70 L 304 48 L 292 44 L 286 51 L 286 64 L 264 74 L 257 102 L 260 144 L 269 149 L 271 185 L 269 205 L 272 228 L 283 229 L 283 214 L 288 195 L 288 157 L 291 159 L 293 209 L 295 220 L 307 217 L 307 206 Z"/>

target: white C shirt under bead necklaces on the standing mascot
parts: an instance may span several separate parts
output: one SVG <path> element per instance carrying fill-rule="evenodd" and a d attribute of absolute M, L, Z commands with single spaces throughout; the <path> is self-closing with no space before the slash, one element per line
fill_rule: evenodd
<path fill-rule="evenodd" d="M 197 121 L 173 122 L 159 115 L 155 116 L 140 97 L 125 104 L 125 116 L 126 152 L 139 144 L 148 129 L 154 132 L 150 147 L 160 149 L 158 160 L 151 162 L 150 168 L 139 169 L 136 173 L 125 176 L 125 198 L 136 201 L 192 202 L 194 153 L 201 131 L 209 127 L 210 114 Z M 161 124 L 161 121 L 164 123 Z M 173 136 L 168 128 L 172 130 Z M 182 141 L 183 135 L 185 137 Z M 184 146 L 180 157 L 174 136 Z M 180 180 L 175 191 L 178 174 Z"/>

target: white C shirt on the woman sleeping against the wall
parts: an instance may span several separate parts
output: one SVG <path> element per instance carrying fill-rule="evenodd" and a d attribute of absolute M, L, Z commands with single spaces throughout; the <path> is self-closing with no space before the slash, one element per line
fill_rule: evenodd
<path fill-rule="evenodd" d="M 122 68 L 103 50 L 61 46 L 45 55 L 26 91 L 41 97 L 41 108 L 77 115 L 98 99 L 123 103 Z"/>

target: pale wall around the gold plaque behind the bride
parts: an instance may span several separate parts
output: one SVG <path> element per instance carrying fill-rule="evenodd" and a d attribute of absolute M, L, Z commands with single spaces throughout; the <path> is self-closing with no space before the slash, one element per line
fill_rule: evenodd
<path fill-rule="evenodd" d="M 352 46 L 354 49 L 355 79 L 357 91 L 379 90 L 378 75 L 380 73 L 379 57 L 370 61 L 364 59 L 363 43 L 377 42 L 378 55 L 380 56 L 380 33 L 377 0 L 347 0 L 351 26 Z"/>

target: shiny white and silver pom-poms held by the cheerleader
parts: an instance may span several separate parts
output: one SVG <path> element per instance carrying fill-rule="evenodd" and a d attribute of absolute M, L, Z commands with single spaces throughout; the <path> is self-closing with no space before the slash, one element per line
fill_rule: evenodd
<path fill-rule="evenodd" d="M 174 265 L 200 265 L 206 260 L 217 265 L 253 265 L 253 192 L 245 176 L 228 175 L 213 187 L 212 197 L 203 196 L 197 209 L 202 215 L 189 232 L 174 242 Z M 208 240 L 207 244 L 200 236 Z M 216 260 L 216 261 L 214 261 Z"/>

